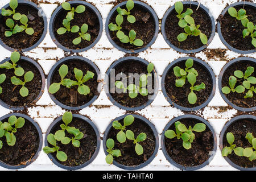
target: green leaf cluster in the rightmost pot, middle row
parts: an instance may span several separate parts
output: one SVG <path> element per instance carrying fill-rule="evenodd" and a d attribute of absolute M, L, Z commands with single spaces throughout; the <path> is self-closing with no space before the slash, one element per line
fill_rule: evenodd
<path fill-rule="evenodd" d="M 234 76 L 229 77 L 229 86 L 224 86 L 221 91 L 222 93 L 229 94 L 230 92 L 237 92 L 237 93 L 243 93 L 245 92 L 245 89 L 248 90 L 244 98 L 252 98 L 253 92 L 256 93 L 256 88 L 254 86 L 251 86 L 251 84 L 256 84 L 256 78 L 251 76 L 253 74 L 254 68 L 253 67 L 247 67 L 245 73 L 243 73 L 240 70 L 234 71 Z M 236 88 L 237 78 L 243 79 L 243 85 L 238 85 Z"/>

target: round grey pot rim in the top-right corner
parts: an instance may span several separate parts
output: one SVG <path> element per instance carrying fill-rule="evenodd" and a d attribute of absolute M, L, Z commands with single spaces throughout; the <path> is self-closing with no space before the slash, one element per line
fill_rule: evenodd
<path fill-rule="evenodd" d="M 221 15 L 224 16 L 230 7 L 239 6 L 239 5 L 253 6 L 254 8 L 256 8 L 256 4 L 253 3 L 253 2 L 247 2 L 247 1 L 236 2 L 236 3 L 233 3 L 233 4 L 229 5 L 228 7 L 226 7 L 226 8 L 222 11 Z M 231 51 L 234 51 L 234 52 L 237 52 L 237 53 L 241 53 L 241 54 L 249 54 L 249 53 L 254 53 L 254 52 L 255 52 L 255 49 L 251 49 L 251 50 L 248 50 L 248 51 L 242 51 L 242 50 L 240 50 L 240 49 L 236 49 L 236 48 L 230 46 L 230 45 L 226 42 L 226 40 L 224 39 L 224 36 L 222 35 L 220 21 L 217 21 L 217 31 L 218 31 L 218 36 L 219 36 L 220 39 L 221 39 L 221 42 L 222 42 L 228 49 L 230 49 Z"/>

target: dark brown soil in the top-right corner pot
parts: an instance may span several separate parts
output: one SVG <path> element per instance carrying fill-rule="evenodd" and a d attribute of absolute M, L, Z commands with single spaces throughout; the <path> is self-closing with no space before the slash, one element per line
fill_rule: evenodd
<path fill-rule="evenodd" d="M 245 9 L 249 21 L 256 24 L 256 10 L 253 9 L 253 7 L 245 5 L 245 7 L 236 6 L 235 8 L 237 11 L 242 8 Z M 250 36 L 246 36 L 246 38 L 243 39 L 242 32 L 245 27 L 243 27 L 241 21 L 230 16 L 228 12 L 224 16 L 220 15 L 218 21 L 221 23 L 221 34 L 230 46 L 242 51 L 255 49 L 253 44 L 251 44 Z"/>

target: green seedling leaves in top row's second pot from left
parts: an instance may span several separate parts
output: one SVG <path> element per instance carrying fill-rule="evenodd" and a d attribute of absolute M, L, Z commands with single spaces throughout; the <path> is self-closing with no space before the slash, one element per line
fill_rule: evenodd
<path fill-rule="evenodd" d="M 88 24 L 86 24 L 86 23 L 82 24 L 81 28 L 77 25 L 71 27 L 71 20 L 74 19 L 75 13 L 83 13 L 85 11 L 85 6 L 79 5 L 75 9 L 74 7 L 71 7 L 71 5 L 68 2 L 63 2 L 61 4 L 61 6 L 63 7 L 64 10 L 67 10 L 69 12 L 68 12 L 67 16 L 65 17 L 65 19 L 63 19 L 62 24 L 64 27 L 60 27 L 57 30 L 57 34 L 63 35 L 66 32 L 72 32 L 72 33 L 78 32 L 79 37 L 75 38 L 72 41 L 72 43 L 74 45 L 80 44 L 82 39 L 90 41 L 90 34 L 87 33 Z M 80 32 L 79 32 L 79 30 L 80 30 Z"/>

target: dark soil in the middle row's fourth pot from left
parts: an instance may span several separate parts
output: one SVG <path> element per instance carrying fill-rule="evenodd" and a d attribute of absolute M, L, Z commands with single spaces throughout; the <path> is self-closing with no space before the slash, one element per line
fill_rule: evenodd
<path fill-rule="evenodd" d="M 194 91 L 194 93 L 197 96 L 197 101 L 196 104 L 192 105 L 188 102 L 188 94 L 191 92 L 191 84 L 189 84 L 188 79 L 186 78 L 185 85 L 183 85 L 183 87 L 175 86 L 175 80 L 177 79 L 177 77 L 174 75 L 174 67 L 176 66 L 184 69 L 185 60 L 173 65 L 166 75 L 164 85 L 168 97 L 170 97 L 171 100 L 175 102 L 177 105 L 183 107 L 196 107 L 204 104 L 204 102 L 208 100 L 210 93 L 212 92 L 213 86 L 212 79 L 207 69 L 205 69 L 202 65 L 194 61 L 193 68 L 195 68 L 196 71 L 199 73 L 199 75 L 196 77 L 195 85 L 200 85 L 203 82 L 205 84 L 205 89 L 200 90 L 199 92 Z"/>

